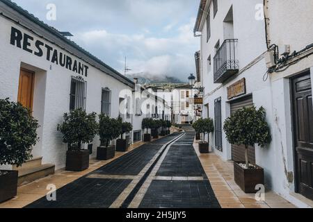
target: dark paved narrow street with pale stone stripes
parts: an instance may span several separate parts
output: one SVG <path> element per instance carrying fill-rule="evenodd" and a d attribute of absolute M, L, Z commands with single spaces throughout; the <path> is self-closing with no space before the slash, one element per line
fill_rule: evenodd
<path fill-rule="evenodd" d="M 144 144 L 26 208 L 219 208 L 194 131 Z"/>

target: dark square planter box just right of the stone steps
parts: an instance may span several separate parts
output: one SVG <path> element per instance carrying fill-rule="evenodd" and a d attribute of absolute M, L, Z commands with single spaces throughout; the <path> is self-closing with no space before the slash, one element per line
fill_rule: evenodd
<path fill-rule="evenodd" d="M 84 171 L 89 168 L 90 151 L 67 151 L 66 167 L 67 171 Z"/>

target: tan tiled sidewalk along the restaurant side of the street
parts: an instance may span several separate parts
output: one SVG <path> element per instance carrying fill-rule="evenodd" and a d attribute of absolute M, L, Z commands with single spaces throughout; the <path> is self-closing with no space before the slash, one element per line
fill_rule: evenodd
<path fill-rule="evenodd" d="M 138 148 L 139 146 L 143 144 L 145 143 L 138 142 L 134 144 L 133 146 L 131 146 L 129 148 L 129 151 L 132 151 L 135 148 Z M 72 171 L 65 171 L 65 170 L 56 171 L 56 173 L 52 176 L 48 176 L 46 178 L 42 178 L 40 180 L 31 182 L 28 185 L 19 187 L 17 190 L 17 197 L 15 197 L 13 200 L 8 200 L 5 203 L 1 203 L 0 208 L 25 207 L 26 205 L 33 203 L 35 200 L 38 200 L 46 196 L 47 192 L 49 191 L 47 190 L 47 185 L 53 184 L 53 185 L 56 185 L 57 189 L 60 189 L 61 187 L 64 187 L 65 185 L 73 182 L 74 180 L 77 180 L 83 176 L 86 176 L 86 174 L 91 173 L 99 169 L 100 167 L 105 166 L 106 164 L 109 164 L 113 160 L 116 160 L 125 154 L 126 153 L 115 153 L 115 157 L 108 161 L 90 160 L 89 169 L 87 169 L 86 171 L 82 171 L 82 172 L 72 172 Z"/>

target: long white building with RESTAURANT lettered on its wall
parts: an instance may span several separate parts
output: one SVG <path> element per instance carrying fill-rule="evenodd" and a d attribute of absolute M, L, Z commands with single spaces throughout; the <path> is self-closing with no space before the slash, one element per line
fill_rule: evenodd
<path fill-rule="evenodd" d="M 142 115 L 134 113 L 132 80 L 11 1 L 0 1 L 0 24 L 0 98 L 21 102 L 38 119 L 40 142 L 33 148 L 34 159 L 42 158 L 42 164 L 56 169 L 65 167 L 67 144 L 57 125 L 65 112 L 77 108 L 114 118 L 121 115 L 134 125 L 130 142 L 141 140 Z M 120 106 L 126 111 L 120 112 Z M 163 110 L 170 117 L 169 107 L 161 106 Z M 99 138 L 93 142 L 91 157 L 97 146 Z"/>

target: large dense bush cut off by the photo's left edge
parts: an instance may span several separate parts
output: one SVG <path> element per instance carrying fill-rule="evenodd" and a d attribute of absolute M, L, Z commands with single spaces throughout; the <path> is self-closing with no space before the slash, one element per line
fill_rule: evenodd
<path fill-rule="evenodd" d="M 38 142 L 38 121 L 20 103 L 0 99 L 0 165 L 17 165 L 33 157 Z"/>

